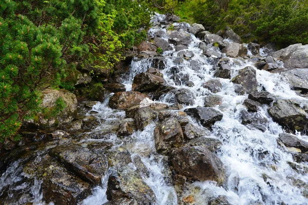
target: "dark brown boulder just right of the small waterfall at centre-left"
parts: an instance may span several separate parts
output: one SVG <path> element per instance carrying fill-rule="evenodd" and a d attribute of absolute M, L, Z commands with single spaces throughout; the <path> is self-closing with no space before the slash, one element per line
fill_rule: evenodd
<path fill-rule="evenodd" d="M 164 78 L 150 73 L 140 73 L 134 76 L 132 91 L 150 92 L 157 90 L 164 83 Z"/>

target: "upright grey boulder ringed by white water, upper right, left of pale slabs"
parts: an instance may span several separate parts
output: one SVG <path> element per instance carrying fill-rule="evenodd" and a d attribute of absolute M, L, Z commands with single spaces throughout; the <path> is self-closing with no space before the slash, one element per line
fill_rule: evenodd
<path fill-rule="evenodd" d="M 257 92 L 257 75 L 253 67 L 247 66 L 241 69 L 239 74 L 232 79 L 232 82 L 243 86 L 247 93 Z"/>

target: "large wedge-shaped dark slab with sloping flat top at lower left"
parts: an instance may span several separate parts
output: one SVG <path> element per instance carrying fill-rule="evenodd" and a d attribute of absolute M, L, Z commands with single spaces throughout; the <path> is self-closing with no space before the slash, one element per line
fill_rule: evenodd
<path fill-rule="evenodd" d="M 56 147 L 50 154 L 63 162 L 77 176 L 94 185 L 101 183 L 101 177 L 108 169 L 106 156 L 98 156 L 85 147 Z"/>

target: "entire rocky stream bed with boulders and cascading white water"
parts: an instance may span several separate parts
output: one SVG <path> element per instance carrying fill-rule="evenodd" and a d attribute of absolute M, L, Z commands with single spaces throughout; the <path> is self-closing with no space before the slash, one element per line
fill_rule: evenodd
<path fill-rule="evenodd" d="M 178 20 L 153 17 L 103 101 L 7 145 L 0 204 L 308 204 L 308 45 Z"/>

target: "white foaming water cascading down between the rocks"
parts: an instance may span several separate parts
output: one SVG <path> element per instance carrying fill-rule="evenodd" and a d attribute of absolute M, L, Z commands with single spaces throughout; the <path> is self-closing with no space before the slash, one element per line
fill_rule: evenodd
<path fill-rule="evenodd" d="M 162 20 L 164 16 L 156 15 L 153 22 Z M 153 28 L 149 31 L 149 35 L 161 31 L 165 33 L 166 28 Z M 185 88 L 192 91 L 196 95 L 194 105 L 185 106 L 182 110 L 191 107 L 202 106 L 204 97 L 210 95 L 210 91 L 201 85 L 210 79 L 214 79 L 215 57 L 206 57 L 202 54 L 202 50 L 198 48 L 201 40 L 191 35 L 192 43 L 186 51 L 194 52 L 194 57 L 184 59 L 183 63 L 175 64 L 174 60 L 178 55 L 175 51 L 166 51 L 163 53 L 165 69 L 161 70 L 166 83 L 176 88 Z M 212 49 L 216 49 L 213 47 Z M 248 53 L 249 54 L 249 53 Z M 225 54 L 222 54 L 225 55 Z M 262 50 L 262 55 L 266 52 Z M 246 66 L 253 66 L 248 59 L 230 58 L 232 62 L 232 77 L 238 74 L 238 71 Z M 197 66 L 196 66 L 197 65 Z M 152 59 L 133 59 L 130 71 L 123 76 L 123 84 L 126 90 L 131 90 L 133 77 L 145 72 L 152 66 Z M 172 79 L 172 69 L 178 68 L 179 73 L 189 76 L 189 80 L 194 83 L 192 87 L 185 84 L 178 85 Z M 255 67 L 254 67 L 255 68 Z M 255 68 L 256 69 L 256 68 Z M 267 71 L 258 70 L 258 90 L 266 90 L 274 96 L 282 99 L 296 99 L 308 104 L 307 98 L 300 97 L 290 88 L 287 80 L 280 74 L 273 74 Z M 240 113 L 246 108 L 242 105 L 247 95 L 238 95 L 234 90 L 234 84 L 230 79 L 219 78 L 222 83 L 222 89 L 216 93 L 223 97 L 221 105 L 215 107 L 223 113 L 221 121 L 216 122 L 213 130 L 206 133 L 207 137 L 217 138 L 222 141 L 221 148 L 217 151 L 217 156 L 221 159 L 226 170 L 226 182 L 223 187 L 218 187 L 214 181 L 194 182 L 184 189 L 183 196 L 194 195 L 195 204 L 207 204 L 210 199 L 219 195 L 224 195 L 232 204 L 308 204 L 308 199 L 303 196 L 303 189 L 293 185 L 294 180 L 300 179 L 308 183 L 308 175 L 298 173 L 288 164 L 294 162 L 292 155 L 284 151 L 277 144 L 279 133 L 284 130 L 276 122 L 269 117 L 267 113 L 267 105 L 263 105 L 256 115 L 265 118 L 263 123 L 265 131 L 244 126 L 241 124 Z M 174 96 L 171 94 L 163 95 L 157 100 L 159 103 L 172 104 Z M 125 118 L 125 112 L 110 109 L 108 99 L 105 102 L 95 105 L 92 110 L 97 111 L 95 115 L 100 118 L 101 126 L 92 132 L 100 132 L 102 127 L 106 129 L 108 121 L 114 121 Z M 90 115 L 90 114 L 88 114 Z M 198 123 L 192 119 L 192 122 Z M 148 125 L 144 131 L 134 131 L 129 139 L 117 138 L 116 135 L 110 135 L 107 140 L 112 142 L 111 149 L 127 149 L 131 153 L 131 159 L 134 161 L 139 156 L 144 163 L 147 174 L 140 173 L 144 182 L 152 189 L 157 198 L 156 204 L 180 204 L 178 201 L 176 189 L 168 184 L 165 180 L 167 163 L 164 156 L 158 154 L 155 149 L 153 132 L 156 127 L 155 122 Z M 308 141 L 308 137 L 301 133 L 297 135 Z M 97 139 L 87 139 L 81 141 L 81 144 L 87 144 L 87 141 Z M 7 172 L 0 178 L 0 191 L 5 187 L 6 183 L 16 182 L 22 176 L 21 171 L 16 172 L 18 162 L 11 165 Z M 296 163 L 296 162 L 295 162 Z M 133 165 L 132 165 L 133 166 Z M 92 195 L 80 202 L 82 205 L 104 204 L 107 202 L 106 189 L 108 177 L 112 170 L 109 170 L 102 177 L 102 184 L 92 190 Z M 14 175 L 18 173 L 19 175 Z M 266 178 L 266 179 L 265 179 Z M 23 185 L 18 185 L 23 186 Z M 17 187 L 15 187 L 17 189 Z M 20 188 L 22 189 L 22 188 Z M 42 194 L 40 192 L 40 181 L 35 181 L 33 187 L 29 190 L 32 192 L 31 202 L 33 204 L 43 204 Z M 18 204 L 18 202 L 16 203 Z M 20 203 L 21 204 L 21 203 Z"/>

